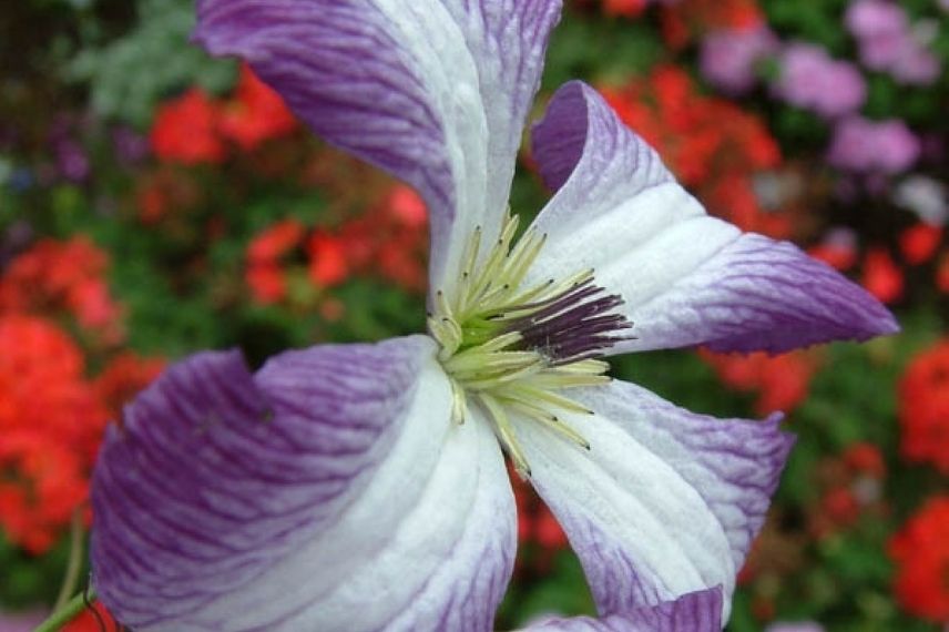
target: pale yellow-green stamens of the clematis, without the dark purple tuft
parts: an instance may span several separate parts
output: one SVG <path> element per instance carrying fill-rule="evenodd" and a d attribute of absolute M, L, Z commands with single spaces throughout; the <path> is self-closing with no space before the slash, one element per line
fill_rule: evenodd
<path fill-rule="evenodd" d="M 517 216 L 508 216 L 498 241 L 484 253 L 481 230 L 476 228 L 462 258 L 457 292 L 435 296 L 428 328 L 441 346 L 439 359 L 451 380 L 452 418 L 462 424 L 469 398 L 491 420 L 494 434 L 521 476 L 530 468 L 511 424 L 511 412 L 533 419 L 578 446 L 589 442 L 563 422 L 559 411 L 592 414 L 560 391 L 610 380 L 609 365 L 596 359 L 557 361 L 543 346 L 531 348 L 519 323 L 538 315 L 571 289 L 592 281 L 593 271 L 572 277 L 521 287 L 547 235 L 528 231 L 517 243 Z M 513 244 L 513 246 L 512 246 Z"/>

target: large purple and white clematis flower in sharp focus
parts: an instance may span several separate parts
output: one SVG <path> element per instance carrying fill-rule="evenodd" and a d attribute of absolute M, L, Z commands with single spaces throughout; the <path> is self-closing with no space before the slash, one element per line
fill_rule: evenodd
<path fill-rule="evenodd" d="M 557 193 L 508 195 L 555 0 L 203 0 L 235 54 L 430 213 L 427 335 L 171 367 L 94 475 L 94 583 L 136 630 L 490 630 L 517 520 L 507 452 L 602 620 L 717 630 L 792 439 L 605 376 L 610 354 L 783 351 L 896 330 L 795 246 L 713 218 L 594 90 L 533 128 Z"/>

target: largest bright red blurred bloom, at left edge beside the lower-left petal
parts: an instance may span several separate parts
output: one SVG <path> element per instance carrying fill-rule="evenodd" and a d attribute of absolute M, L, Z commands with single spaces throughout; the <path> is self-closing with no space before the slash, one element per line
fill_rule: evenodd
<path fill-rule="evenodd" d="M 108 411 L 75 344 L 52 323 L 0 317 L 0 526 L 32 553 L 85 500 Z"/>

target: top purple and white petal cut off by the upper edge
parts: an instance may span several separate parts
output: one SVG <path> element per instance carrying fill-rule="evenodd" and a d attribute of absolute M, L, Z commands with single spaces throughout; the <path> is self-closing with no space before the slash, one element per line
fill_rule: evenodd
<path fill-rule="evenodd" d="M 431 286 L 493 239 L 560 0 L 202 0 L 195 38 L 236 54 L 316 133 L 415 186 Z"/>

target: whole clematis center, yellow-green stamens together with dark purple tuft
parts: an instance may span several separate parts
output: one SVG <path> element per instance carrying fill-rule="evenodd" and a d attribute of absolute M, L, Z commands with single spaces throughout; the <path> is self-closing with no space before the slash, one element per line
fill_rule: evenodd
<path fill-rule="evenodd" d="M 449 298 L 436 292 L 428 329 L 441 346 L 438 357 L 451 380 L 452 419 L 462 424 L 473 399 L 527 477 L 530 467 L 510 412 L 589 450 L 590 444 L 558 414 L 593 411 L 561 391 L 609 383 L 610 366 L 596 358 L 627 339 L 632 324 L 613 313 L 623 300 L 595 285 L 592 269 L 524 286 L 547 235 L 531 228 L 514 243 L 517 230 L 518 217 L 509 215 L 480 259 L 481 228 L 474 230 L 457 293 Z"/>

